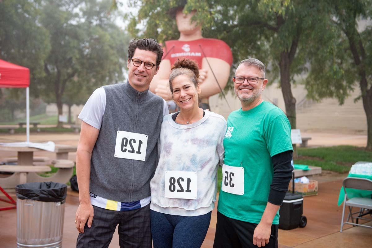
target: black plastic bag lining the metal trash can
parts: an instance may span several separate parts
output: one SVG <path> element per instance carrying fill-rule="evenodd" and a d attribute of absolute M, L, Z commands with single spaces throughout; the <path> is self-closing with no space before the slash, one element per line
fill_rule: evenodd
<path fill-rule="evenodd" d="M 67 185 L 55 182 L 24 183 L 16 186 L 16 194 L 17 198 L 21 200 L 64 203 L 67 196 Z"/>

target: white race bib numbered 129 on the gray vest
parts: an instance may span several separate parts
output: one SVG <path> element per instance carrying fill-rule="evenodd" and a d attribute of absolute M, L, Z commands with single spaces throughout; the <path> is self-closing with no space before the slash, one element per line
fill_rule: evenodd
<path fill-rule="evenodd" d="M 116 133 L 115 157 L 145 161 L 147 135 L 118 131 Z"/>

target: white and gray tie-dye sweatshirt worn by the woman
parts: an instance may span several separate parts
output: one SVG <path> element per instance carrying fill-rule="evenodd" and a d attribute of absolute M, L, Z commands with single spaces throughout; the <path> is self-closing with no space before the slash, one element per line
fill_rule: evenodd
<path fill-rule="evenodd" d="M 161 124 L 150 208 L 171 215 L 203 215 L 212 211 L 216 201 L 217 169 L 224 154 L 227 124 L 224 117 L 209 111 L 201 120 L 187 125 L 177 124 L 172 115 L 164 116 Z M 166 198 L 166 171 L 196 172 L 196 199 Z"/>

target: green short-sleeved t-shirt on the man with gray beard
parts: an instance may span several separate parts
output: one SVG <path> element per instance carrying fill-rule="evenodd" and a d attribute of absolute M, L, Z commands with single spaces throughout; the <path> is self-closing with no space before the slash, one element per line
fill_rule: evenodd
<path fill-rule="evenodd" d="M 259 223 L 273 179 L 271 157 L 292 150 L 291 124 L 266 101 L 248 111 L 236 110 L 227 119 L 224 148 L 224 164 L 244 168 L 244 195 L 221 190 L 217 209 L 232 219 Z M 279 211 L 273 224 L 279 224 Z"/>

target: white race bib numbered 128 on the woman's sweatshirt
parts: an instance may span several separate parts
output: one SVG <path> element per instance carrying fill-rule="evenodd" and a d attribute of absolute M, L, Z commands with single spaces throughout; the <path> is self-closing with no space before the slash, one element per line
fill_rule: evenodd
<path fill-rule="evenodd" d="M 198 174 L 196 172 L 165 172 L 165 197 L 179 199 L 196 199 L 198 191 Z"/>

